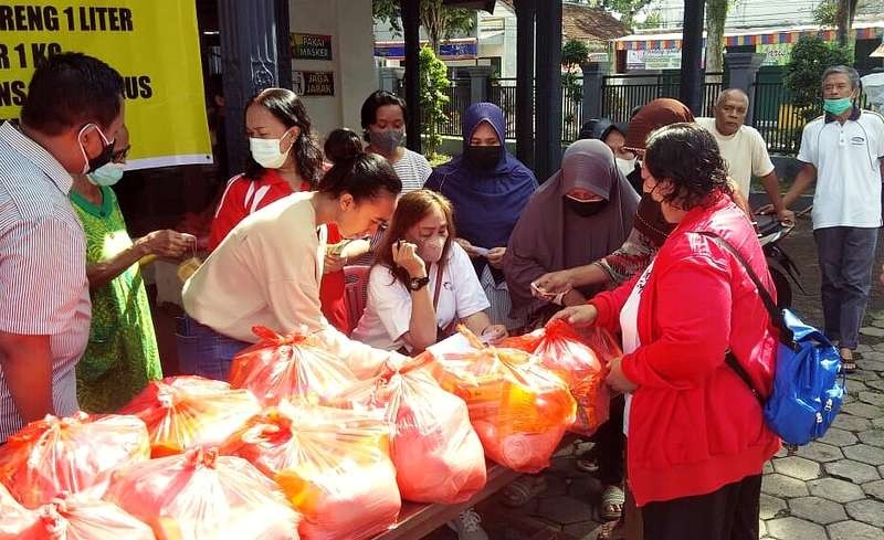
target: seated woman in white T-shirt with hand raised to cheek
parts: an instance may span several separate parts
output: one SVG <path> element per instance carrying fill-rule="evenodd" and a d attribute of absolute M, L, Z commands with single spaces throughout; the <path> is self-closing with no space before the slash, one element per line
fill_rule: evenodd
<path fill-rule="evenodd" d="M 457 322 L 486 339 L 506 335 L 503 326 L 491 324 L 470 257 L 453 242 L 452 213 L 451 202 L 433 191 L 402 195 L 378 248 L 354 339 L 413 354 Z"/>

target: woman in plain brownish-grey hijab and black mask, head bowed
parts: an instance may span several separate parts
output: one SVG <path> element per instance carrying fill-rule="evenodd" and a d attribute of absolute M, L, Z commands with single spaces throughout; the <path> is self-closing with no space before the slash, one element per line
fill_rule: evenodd
<path fill-rule="evenodd" d="M 592 288 L 543 295 L 532 284 L 620 247 L 638 205 L 638 193 L 607 145 L 578 140 L 569 146 L 561 169 L 532 195 L 509 239 L 503 268 L 513 316 L 543 324 L 564 305 L 586 303 Z"/>

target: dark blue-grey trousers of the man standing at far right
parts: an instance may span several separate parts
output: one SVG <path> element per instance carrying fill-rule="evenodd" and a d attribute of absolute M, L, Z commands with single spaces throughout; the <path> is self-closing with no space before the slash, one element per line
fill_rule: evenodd
<path fill-rule="evenodd" d="M 872 288 L 878 229 L 832 226 L 813 231 L 822 274 L 825 336 L 855 349 Z"/>

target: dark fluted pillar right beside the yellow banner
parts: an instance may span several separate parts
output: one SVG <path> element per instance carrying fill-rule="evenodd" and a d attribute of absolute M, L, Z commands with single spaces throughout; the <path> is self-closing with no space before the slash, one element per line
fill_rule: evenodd
<path fill-rule="evenodd" d="M 241 170 L 249 147 L 245 102 L 264 88 L 292 87 L 287 0 L 220 0 L 221 62 L 224 72 L 228 161 Z"/>

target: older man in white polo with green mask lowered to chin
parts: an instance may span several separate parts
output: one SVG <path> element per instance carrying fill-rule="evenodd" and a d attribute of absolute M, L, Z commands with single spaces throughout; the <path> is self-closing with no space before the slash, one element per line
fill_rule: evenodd
<path fill-rule="evenodd" d="M 881 179 L 884 173 L 884 119 L 861 110 L 860 75 L 843 65 L 822 77 L 825 115 L 801 136 L 798 173 L 783 202 L 790 205 L 817 180 L 813 194 L 813 237 L 822 273 L 825 333 L 841 348 L 844 370 L 856 369 L 860 326 L 872 286 L 881 221 Z"/>

